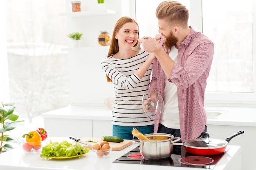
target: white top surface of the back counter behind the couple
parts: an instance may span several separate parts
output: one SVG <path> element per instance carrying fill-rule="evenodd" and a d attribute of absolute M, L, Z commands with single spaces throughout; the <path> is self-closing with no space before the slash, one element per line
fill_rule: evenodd
<path fill-rule="evenodd" d="M 207 119 L 208 124 L 229 126 L 256 126 L 256 107 L 205 107 L 209 111 L 227 111 L 217 119 Z M 74 118 L 89 120 L 112 120 L 108 107 L 67 106 L 42 114 L 43 118 Z"/>

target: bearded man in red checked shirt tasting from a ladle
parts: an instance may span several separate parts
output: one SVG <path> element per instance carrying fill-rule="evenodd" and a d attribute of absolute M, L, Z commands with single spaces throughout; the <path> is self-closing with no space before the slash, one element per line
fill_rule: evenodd
<path fill-rule="evenodd" d="M 144 50 L 156 56 L 150 89 L 164 99 L 164 113 L 155 121 L 154 133 L 170 133 L 185 142 L 207 131 L 204 92 L 214 45 L 188 26 L 189 11 L 179 2 L 160 3 L 156 17 L 164 36 L 161 41 L 139 39 Z"/>

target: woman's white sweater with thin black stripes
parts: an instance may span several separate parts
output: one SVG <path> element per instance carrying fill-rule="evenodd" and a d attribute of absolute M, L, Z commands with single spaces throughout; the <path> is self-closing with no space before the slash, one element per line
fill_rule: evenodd
<path fill-rule="evenodd" d="M 112 111 L 112 124 L 119 126 L 147 126 L 154 124 L 141 109 L 142 96 L 148 90 L 153 63 L 143 78 L 134 72 L 148 58 L 148 52 L 140 50 L 129 59 L 110 56 L 101 63 L 103 71 L 112 80 L 116 101 Z"/>

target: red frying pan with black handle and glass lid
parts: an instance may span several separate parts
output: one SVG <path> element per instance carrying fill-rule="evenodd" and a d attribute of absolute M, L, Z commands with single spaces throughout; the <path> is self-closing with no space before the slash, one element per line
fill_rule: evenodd
<path fill-rule="evenodd" d="M 244 131 L 238 131 L 233 135 L 227 137 L 225 140 L 222 139 L 211 139 L 207 132 L 202 132 L 201 137 L 198 139 L 187 140 L 183 143 L 184 148 L 187 152 L 195 155 L 218 155 L 225 152 L 229 141 L 237 136 L 244 133 Z M 202 136 L 207 137 L 203 138 Z"/>

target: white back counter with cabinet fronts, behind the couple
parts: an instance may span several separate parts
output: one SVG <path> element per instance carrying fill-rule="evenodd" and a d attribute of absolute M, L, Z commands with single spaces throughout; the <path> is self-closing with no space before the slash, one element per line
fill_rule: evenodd
<path fill-rule="evenodd" d="M 245 133 L 231 139 L 230 145 L 241 146 L 242 166 L 256 168 L 256 148 L 251 147 L 256 136 L 256 107 L 206 107 L 207 111 L 224 111 L 216 119 L 207 118 L 207 131 L 211 138 L 226 139 L 244 130 Z M 101 137 L 112 135 L 112 110 L 106 106 L 67 106 L 42 114 L 49 136 Z M 80 129 L 77 131 L 76 129 Z"/>

